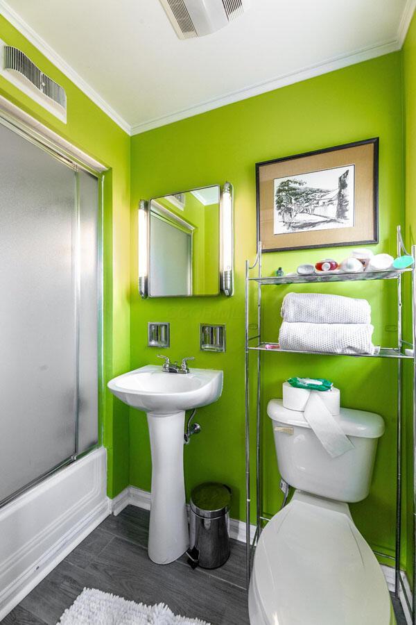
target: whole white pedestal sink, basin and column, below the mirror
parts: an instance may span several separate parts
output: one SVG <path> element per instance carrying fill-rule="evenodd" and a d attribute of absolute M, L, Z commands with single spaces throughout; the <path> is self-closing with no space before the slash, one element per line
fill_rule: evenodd
<path fill-rule="evenodd" d="M 157 564 L 168 564 L 189 547 L 183 468 L 185 410 L 216 401 L 223 390 L 223 372 L 190 369 L 187 374 L 175 374 L 146 365 L 112 379 L 108 387 L 128 406 L 147 412 L 152 453 L 148 555 Z"/>

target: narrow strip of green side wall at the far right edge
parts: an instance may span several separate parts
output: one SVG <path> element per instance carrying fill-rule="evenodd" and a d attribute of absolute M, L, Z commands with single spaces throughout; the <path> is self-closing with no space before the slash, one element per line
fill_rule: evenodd
<path fill-rule="evenodd" d="M 406 246 L 416 244 L 416 15 L 410 24 L 406 41 L 403 47 L 403 78 L 404 78 L 404 147 L 405 147 L 405 224 Z M 410 292 L 408 292 L 410 294 Z M 406 311 L 410 313 L 410 310 Z M 410 332 L 410 314 L 407 315 L 406 331 L 408 340 L 412 340 Z M 413 411 L 412 387 L 413 367 L 406 363 L 406 387 L 404 393 L 404 453 L 405 453 L 405 490 L 408 515 L 406 517 L 407 542 L 407 571 L 413 568 Z"/>

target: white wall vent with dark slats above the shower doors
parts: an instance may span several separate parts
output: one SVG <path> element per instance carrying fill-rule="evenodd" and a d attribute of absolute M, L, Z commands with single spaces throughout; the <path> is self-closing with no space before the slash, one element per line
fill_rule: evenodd
<path fill-rule="evenodd" d="M 67 121 L 67 95 L 63 87 L 46 76 L 21 50 L 0 41 L 0 74 L 37 103 Z"/>

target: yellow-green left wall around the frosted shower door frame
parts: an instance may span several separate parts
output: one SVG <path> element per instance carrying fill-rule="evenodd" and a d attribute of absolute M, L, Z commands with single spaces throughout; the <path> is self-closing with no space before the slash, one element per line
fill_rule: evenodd
<path fill-rule="evenodd" d="M 42 124 L 109 168 L 104 187 L 104 379 L 129 365 L 130 137 L 83 92 L 58 71 L 6 19 L 0 16 L 0 39 L 17 46 L 67 92 L 68 119 L 63 124 L 0 76 L 0 94 Z M 108 493 L 128 485 L 128 409 L 105 390 L 101 402 L 103 442 L 108 450 Z M 116 458 L 116 462 L 113 462 Z"/>

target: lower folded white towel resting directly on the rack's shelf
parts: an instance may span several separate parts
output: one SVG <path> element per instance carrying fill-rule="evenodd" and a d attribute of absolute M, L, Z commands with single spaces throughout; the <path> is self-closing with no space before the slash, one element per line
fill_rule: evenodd
<path fill-rule="evenodd" d="M 371 324 L 291 324 L 279 332 L 281 349 L 331 353 L 378 353 L 372 344 Z"/>

